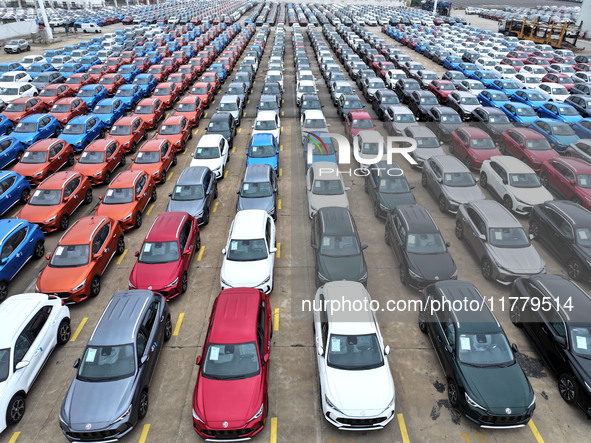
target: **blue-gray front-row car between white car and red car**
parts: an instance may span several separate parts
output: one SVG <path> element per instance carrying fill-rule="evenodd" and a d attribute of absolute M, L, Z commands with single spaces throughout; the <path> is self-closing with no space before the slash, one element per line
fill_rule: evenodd
<path fill-rule="evenodd" d="M 165 298 L 146 290 L 116 293 L 100 317 L 62 403 L 70 441 L 117 441 L 148 412 L 148 391 L 172 336 Z"/>

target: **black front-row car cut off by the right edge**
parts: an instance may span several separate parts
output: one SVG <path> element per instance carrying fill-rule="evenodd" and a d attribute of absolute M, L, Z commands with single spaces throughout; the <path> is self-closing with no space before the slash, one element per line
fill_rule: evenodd
<path fill-rule="evenodd" d="M 511 321 L 558 377 L 564 401 L 591 418 L 591 298 L 563 275 L 520 277 L 511 288 Z"/>

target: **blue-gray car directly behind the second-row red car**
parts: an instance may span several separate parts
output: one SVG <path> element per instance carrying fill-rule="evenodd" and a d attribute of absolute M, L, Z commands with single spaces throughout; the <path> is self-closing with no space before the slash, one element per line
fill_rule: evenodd
<path fill-rule="evenodd" d="M 185 168 L 168 196 L 166 212 L 187 212 L 197 219 L 199 226 L 206 225 L 211 205 L 218 196 L 215 174 L 206 166 Z"/>

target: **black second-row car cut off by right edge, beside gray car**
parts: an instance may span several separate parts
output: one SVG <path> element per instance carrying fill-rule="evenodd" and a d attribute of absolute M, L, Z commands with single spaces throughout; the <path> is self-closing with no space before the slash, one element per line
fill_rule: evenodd
<path fill-rule="evenodd" d="M 591 212 L 567 200 L 535 205 L 529 233 L 566 265 L 575 280 L 591 279 Z"/>

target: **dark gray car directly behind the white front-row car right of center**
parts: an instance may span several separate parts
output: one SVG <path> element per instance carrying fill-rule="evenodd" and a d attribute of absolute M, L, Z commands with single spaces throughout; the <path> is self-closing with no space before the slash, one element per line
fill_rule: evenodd
<path fill-rule="evenodd" d="M 367 285 L 367 266 L 357 227 L 348 209 L 320 208 L 312 219 L 312 248 L 316 262 L 316 286 L 336 280 Z"/>

